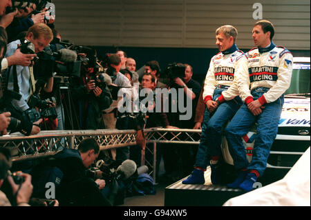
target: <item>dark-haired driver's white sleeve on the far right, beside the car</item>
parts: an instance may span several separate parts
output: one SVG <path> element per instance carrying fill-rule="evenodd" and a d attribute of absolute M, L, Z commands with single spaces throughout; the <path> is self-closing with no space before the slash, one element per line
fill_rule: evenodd
<path fill-rule="evenodd" d="M 290 88 L 290 81 L 292 79 L 292 54 L 289 51 L 285 52 L 279 59 L 277 76 L 278 79 L 274 86 L 258 99 L 262 105 L 264 103 L 276 101 L 276 99 L 279 99 L 279 97 Z"/>

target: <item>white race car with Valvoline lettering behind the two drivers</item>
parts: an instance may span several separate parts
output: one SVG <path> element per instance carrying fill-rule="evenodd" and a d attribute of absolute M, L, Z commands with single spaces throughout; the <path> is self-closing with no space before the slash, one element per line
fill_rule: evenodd
<path fill-rule="evenodd" d="M 263 174 L 265 183 L 283 178 L 310 146 L 310 57 L 294 57 L 293 61 L 292 81 L 285 92 L 278 134 Z M 255 136 L 256 125 L 243 137 L 249 161 Z M 225 137 L 222 150 L 226 163 L 233 165 Z"/>

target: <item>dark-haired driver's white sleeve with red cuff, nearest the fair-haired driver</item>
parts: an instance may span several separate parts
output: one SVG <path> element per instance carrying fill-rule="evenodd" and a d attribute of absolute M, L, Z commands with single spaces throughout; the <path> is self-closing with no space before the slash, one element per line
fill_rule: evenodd
<path fill-rule="evenodd" d="M 252 94 L 249 90 L 249 72 L 248 72 L 248 59 L 247 55 L 243 54 L 242 57 L 238 57 L 238 66 L 234 74 L 236 78 L 236 86 L 243 102 L 249 103 L 253 101 Z"/>

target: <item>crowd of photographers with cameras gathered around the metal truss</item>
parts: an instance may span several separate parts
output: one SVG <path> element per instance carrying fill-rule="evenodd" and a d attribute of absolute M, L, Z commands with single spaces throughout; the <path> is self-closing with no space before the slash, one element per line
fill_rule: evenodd
<path fill-rule="evenodd" d="M 117 128 L 138 130 L 143 138 L 144 128 L 200 128 L 198 123 L 202 119 L 196 121 L 195 112 L 192 112 L 191 119 L 180 120 L 180 114 L 185 112 L 180 112 L 179 108 L 171 110 L 173 106 L 178 106 L 179 95 L 178 99 L 161 97 L 160 112 L 156 110 L 158 103 L 154 101 L 144 103 L 147 111 L 134 111 L 133 94 L 138 87 L 147 91 L 145 97 L 139 97 L 140 102 L 149 94 L 155 97 L 156 89 L 179 88 L 184 93 L 182 103 L 190 100 L 191 110 L 195 110 L 199 97 L 202 97 L 199 95 L 201 86 L 191 79 L 193 70 L 189 64 L 172 63 L 161 71 L 158 61 L 148 61 L 144 71 L 138 72 L 135 59 L 127 57 L 122 50 L 98 57 L 91 46 L 63 42 L 61 33 L 55 29 L 54 14 L 55 6 L 46 0 L 0 0 L 0 135 L 13 132 L 31 135 L 41 130 Z M 164 111 L 163 99 L 169 99 L 168 111 Z M 198 115 L 202 114 L 200 112 Z M 125 168 L 122 174 L 131 176 L 134 172 L 129 170 L 135 171 L 140 164 L 140 147 L 143 145 L 117 148 L 105 152 L 104 157 L 112 159 L 113 168 Z M 111 206 L 116 203 L 116 195 L 122 187 L 115 187 L 120 185 L 115 181 L 120 178 L 109 177 L 109 185 L 103 179 L 93 178 L 90 182 L 86 174 L 87 168 L 100 154 L 94 139 L 82 141 L 78 150 L 64 149 L 53 158 L 60 171 L 54 169 L 54 161 L 54 166 L 50 166 L 53 172 L 50 173 L 55 174 L 56 179 L 62 179 L 62 187 L 58 191 L 58 200 L 51 201 L 30 199 L 31 195 L 43 197 L 35 190 L 32 193 L 32 185 L 38 187 L 39 179 L 35 178 L 46 170 L 32 170 L 32 175 L 21 172 L 19 177 L 23 181 L 18 187 L 8 174 L 12 167 L 10 152 L 3 149 L 0 148 L 0 190 L 5 179 L 11 190 L 10 195 L 0 191 L 0 206 L 38 203 L 58 206 L 59 201 L 64 206 Z M 166 173 L 163 179 L 175 181 L 191 171 L 196 152 L 194 148 L 167 148 L 162 144 L 157 155 L 158 161 L 161 157 L 164 159 Z M 146 157 L 152 160 L 150 154 L 147 153 Z M 70 158 L 73 163 L 67 166 L 69 160 L 64 158 Z M 122 163 L 129 159 L 135 161 L 135 166 L 125 163 L 122 167 Z"/>

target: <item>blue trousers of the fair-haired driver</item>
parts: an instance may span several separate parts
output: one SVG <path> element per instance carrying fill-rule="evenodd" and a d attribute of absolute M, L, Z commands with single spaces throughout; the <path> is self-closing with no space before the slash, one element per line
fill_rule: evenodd
<path fill-rule="evenodd" d="M 224 89 L 216 88 L 213 100 L 220 97 L 223 90 Z M 209 165 L 210 157 L 221 155 L 220 144 L 223 127 L 227 125 L 229 119 L 232 119 L 241 105 L 241 98 L 236 97 L 230 101 L 221 103 L 218 108 L 216 108 L 215 112 L 210 113 L 207 108 L 205 109 L 200 144 L 198 146 L 194 167 L 206 169 L 207 165 Z"/>

